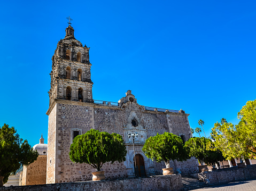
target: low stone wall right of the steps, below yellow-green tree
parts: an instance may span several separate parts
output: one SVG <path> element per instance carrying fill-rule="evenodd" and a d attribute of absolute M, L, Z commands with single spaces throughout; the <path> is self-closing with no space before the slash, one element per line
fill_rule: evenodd
<path fill-rule="evenodd" d="M 256 164 L 247 165 L 246 168 L 238 169 L 231 167 L 227 169 L 219 169 L 212 172 L 198 173 L 198 179 L 208 184 L 223 184 L 246 179 L 256 178 Z M 193 176 L 195 177 L 195 175 Z"/>

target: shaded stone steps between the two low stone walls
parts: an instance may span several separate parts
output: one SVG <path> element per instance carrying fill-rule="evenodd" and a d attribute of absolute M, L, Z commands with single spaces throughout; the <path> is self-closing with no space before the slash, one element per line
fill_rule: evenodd
<path fill-rule="evenodd" d="M 204 188 L 208 186 L 205 182 L 189 176 L 182 177 L 182 183 L 184 191 Z"/>

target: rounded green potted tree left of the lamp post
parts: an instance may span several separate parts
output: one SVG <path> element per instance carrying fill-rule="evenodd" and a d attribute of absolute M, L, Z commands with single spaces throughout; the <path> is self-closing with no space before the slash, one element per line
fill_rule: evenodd
<path fill-rule="evenodd" d="M 69 157 L 73 162 L 87 163 L 100 171 L 106 162 L 125 161 L 126 153 L 121 135 L 91 129 L 74 138 Z"/>

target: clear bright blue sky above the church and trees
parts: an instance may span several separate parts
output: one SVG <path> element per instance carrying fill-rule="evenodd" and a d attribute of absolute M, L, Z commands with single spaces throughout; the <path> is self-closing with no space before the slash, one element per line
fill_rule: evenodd
<path fill-rule="evenodd" d="M 255 1 L 3 1 L 0 125 L 32 146 L 47 139 L 51 57 L 65 37 L 90 47 L 94 99 L 118 102 L 128 89 L 141 105 L 237 124 L 256 99 Z M 202 135 L 202 134 L 201 134 Z"/>

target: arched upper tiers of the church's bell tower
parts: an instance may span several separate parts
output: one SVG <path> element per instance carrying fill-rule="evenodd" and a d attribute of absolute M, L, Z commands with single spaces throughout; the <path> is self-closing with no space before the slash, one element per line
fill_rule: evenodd
<path fill-rule="evenodd" d="M 90 102 L 92 99 L 91 63 L 89 49 L 74 37 L 71 23 L 66 36 L 60 39 L 52 56 L 50 106 L 55 99 Z"/>

